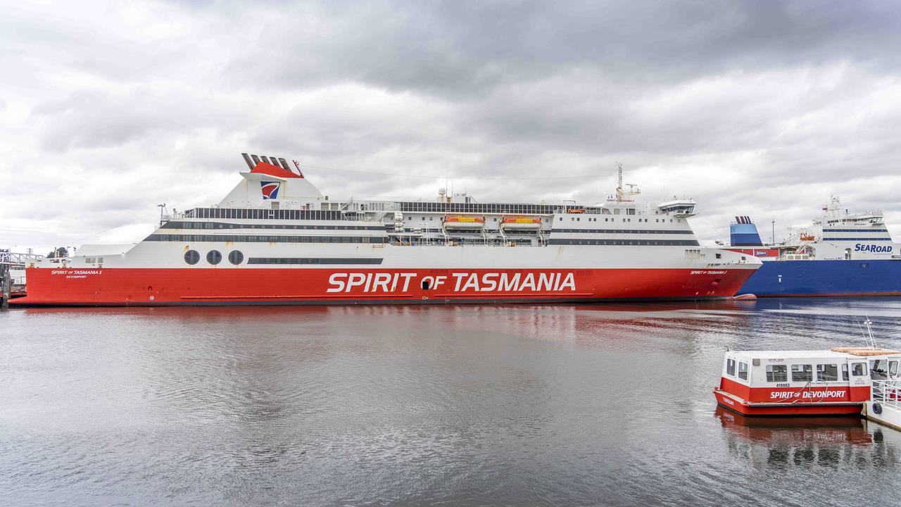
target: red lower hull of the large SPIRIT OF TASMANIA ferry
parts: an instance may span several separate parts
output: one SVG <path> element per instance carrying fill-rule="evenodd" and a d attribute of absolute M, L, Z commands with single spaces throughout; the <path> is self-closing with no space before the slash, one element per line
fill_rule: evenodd
<path fill-rule="evenodd" d="M 705 300 L 732 297 L 752 269 L 388 270 L 29 268 L 20 305 L 410 304 Z M 423 281 L 430 288 L 423 289 Z"/>

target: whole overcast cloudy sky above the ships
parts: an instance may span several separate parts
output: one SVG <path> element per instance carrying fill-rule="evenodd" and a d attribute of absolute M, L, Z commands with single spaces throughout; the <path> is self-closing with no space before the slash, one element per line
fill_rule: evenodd
<path fill-rule="evenodd" d="M 432 199 L 448 178 L 482 202 L 594 204 L 622 161 L 645 198 L 695 198 L 702 240 L 735 215 L 780 236 L 833 194 L 901 231 L 897 2 L 0 8 L 16 251 L 139 241 L 157 204 L 223 198 L 241 152 L 300 161 L 332 199 Z"/>

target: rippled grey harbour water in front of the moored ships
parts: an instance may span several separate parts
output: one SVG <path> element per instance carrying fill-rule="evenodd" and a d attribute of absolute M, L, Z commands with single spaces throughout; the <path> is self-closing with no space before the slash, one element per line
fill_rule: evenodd
<path fill-rule="evenodd" d="M 901 300 L 0 313 L 2 505 L 891 504 L 901 433 L 742 419 L 733 349 Z"/>

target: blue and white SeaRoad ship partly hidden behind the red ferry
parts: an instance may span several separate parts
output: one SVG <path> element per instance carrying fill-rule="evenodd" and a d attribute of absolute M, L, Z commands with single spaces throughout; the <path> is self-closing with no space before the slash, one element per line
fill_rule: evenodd
<path fill-rule="evenodd" d="M 901 244 L 888 234 L 881 211 L 853 214 L 839 198 L 810 226 L 782 244 L 763 244 L 750 217 L 735 217 L 730 246 L 763 266 L 739 294 L 768 296 L 901 295 Z"/>

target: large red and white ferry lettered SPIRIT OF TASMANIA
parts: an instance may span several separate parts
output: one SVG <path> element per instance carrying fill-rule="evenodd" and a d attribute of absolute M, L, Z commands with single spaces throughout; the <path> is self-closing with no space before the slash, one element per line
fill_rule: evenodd
<path fill-rule="evenodd" d="M 596 206 L 330 200 L 299 164 L 243 153 L 212 207 L 166 213 L 140 243 L 27 267 L 22 305 L 586 302 L 728 298 L 760 267 L 702 248 L 696 203 Z"/>

